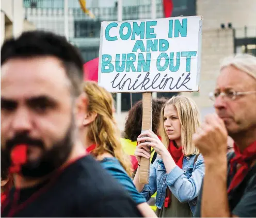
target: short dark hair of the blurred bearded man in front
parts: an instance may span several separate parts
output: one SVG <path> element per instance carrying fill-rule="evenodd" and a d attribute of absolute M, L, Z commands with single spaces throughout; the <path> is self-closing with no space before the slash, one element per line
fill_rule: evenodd
<path fill-rule="evenodd" d="M 75 96 L 82 93 L 83 58 L 65 37 L 46 31 L 27 31 L 9 39 L 1 48 L 1 65 L 12 58 L 53 56 L 62 61 Z"/>

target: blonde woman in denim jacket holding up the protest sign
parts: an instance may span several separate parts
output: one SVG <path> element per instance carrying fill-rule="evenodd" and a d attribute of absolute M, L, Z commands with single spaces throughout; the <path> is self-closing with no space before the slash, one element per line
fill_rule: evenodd
<path fill-rule="evenodd" d="M 192 144 L 199 122 L 199 111 L 193 100 L 174 96 L 161 111 L 161 140 L 148 130 L 137 141 L 135 156 L 150 158 L 149 146 L 158 154 L 150 167 L 149 184 L 139 183 L 139 169 L 134 183 L 148 200 L 157 191 L 158 217 L 192 217 L 204 176 L 204 161 Z"/>

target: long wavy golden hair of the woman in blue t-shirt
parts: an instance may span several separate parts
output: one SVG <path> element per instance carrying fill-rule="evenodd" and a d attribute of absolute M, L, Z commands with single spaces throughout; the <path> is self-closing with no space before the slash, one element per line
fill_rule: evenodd
<path fill-rule="evenodd" d="M 88 113 L 96 113 L 95 120 L 90 123 L 88 139 L 96 144 L 91 152 L 94 157 L 109 153 L 119 160 L 124 170 L 132 175 L 129 156 L 125 155 L 120 142 L 120 134 L 113 116 L 113 97 L 104 88 L 92 81 L 86 81 L 84 92 L 88 100 Z"/>

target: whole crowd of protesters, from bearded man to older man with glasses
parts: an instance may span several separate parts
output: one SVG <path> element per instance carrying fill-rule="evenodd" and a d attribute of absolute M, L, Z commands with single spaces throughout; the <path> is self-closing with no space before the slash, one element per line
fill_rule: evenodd
<path fill-rule="evenodd" d="M 83 78 L 65 37 L 30 31 L 3 44 L 2 217 L 256 216 L 256 57 L 223 61 L 214 114 L 201 121 L 192 99 L 156 98 L 143 132 L 142 100 L 120 133 L 111 94 Z"/>

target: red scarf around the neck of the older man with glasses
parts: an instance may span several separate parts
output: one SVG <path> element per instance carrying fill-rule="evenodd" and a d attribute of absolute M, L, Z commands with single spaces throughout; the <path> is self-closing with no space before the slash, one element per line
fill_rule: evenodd
<path fill-rule="evenodd" d="M 228 193 L 233 190 L 235 187 L 239 185 L 245 178 L 246 174 L 250 170 L 250 166 L 253 160 L 256 158 L 256 141 L 250 144 L 244 151 L 241 153 L 239 148 L 234 144 L 235 157 L 230 160 L 230 173 L 234 170 L 236 164 L 241 164 L 241 167 L 235 173 L 229 189 Z"/>

